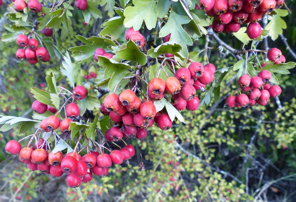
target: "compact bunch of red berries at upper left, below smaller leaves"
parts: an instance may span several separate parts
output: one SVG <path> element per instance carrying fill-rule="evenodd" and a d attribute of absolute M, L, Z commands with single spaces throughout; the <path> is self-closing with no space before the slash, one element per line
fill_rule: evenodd
<path fill-rule="evenodd" d="M 24 34 L 20 34 L 17 36 L 17 44 L 25 49 L 18 49 L 15 57 L 18 60 L 25 60 L 31 64 L 34 65 L 41 60 L 42 62 L 48 62 L 50 59 L 49 53 L 47 52 L 47 49 L 44 47 L 39 47 L 39 42 L 37 39 L 30 38 Z M 39 48 L 38 48 L 39 47 Z"/>

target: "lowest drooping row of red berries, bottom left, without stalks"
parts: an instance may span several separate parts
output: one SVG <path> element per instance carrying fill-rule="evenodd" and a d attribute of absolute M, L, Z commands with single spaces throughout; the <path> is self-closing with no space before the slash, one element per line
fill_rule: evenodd
<path fill-rule="evenodd" d="M 39 170 L 53 177 L 60 177 L 63 173 L 68 174 L 67 184 L 72 188 L 79 187 L 81 182 L 91 182 L 93 174 L 100 177 L 106 176 L 112 163 L 119 165 L 123 161 L 128 162 L 128 159 L 135 155 L 132 145 L 126 145 L 120 150 L 113 150 L 110 155 L 95 151 L 88 151 L 82 157 L 77 152 L 48 153 L 46 151 L 47 143 L 43 138 L 40 138 L 38 142 L 35 142 L 34 147 L 29 143 L 28 147 L 22 148 L 19 142 L 10 140 L 7 142 L 5 150 L 12 155 L 20 153 L 20 162 L 25 163 L 32 171 Z"/>

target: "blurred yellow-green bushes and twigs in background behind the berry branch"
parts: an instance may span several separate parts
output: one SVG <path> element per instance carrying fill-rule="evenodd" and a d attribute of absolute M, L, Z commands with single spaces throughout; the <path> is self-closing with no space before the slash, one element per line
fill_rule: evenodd
<path fill-rule="evenodd" d="M 290 9 L 296 7 L 295 1 L 286 3 Z M 4 1 L 0 7 L 1 22 L 5 21 L 6 5 Z M 80 11 L 72 10 L 73 36 L 96 36 L 104 20 L 115 15 L 106 11 L 105 6 L 99 8 L 103 18 L 91 18 L 88 25 L 83 23 Z M 294 51 L 295 18 L 294 11 L 283 17 L 287 23 L 283 36 Z M 0 31 L 5 33 L 2 28 Z M 242 49 L 243 44 L 231 34 L 219 36 L 226 44 Z M 62 53 L 82 45 L 72 37 L 58 43 Z M 215 46 L 212 38 L 203 36 L 194 42 L 190 54 L 201 52 L 205 43 L 208 47 Z M 288 62 L 295 62 L 281 37 L 276 41 L 267 38 L 266 44 L 262 41 L 257 48 L 264 50 L 266 45 L 281 49 Z M 245 48 L 249 49 L 250 44 Z M 61 60 L 31 66 L 15 59 L 17 49 L 16 43 L 0 41 L 0 79 L 4 84 L 0 114 L 30 118 L 33 102 L 30 87 L 47 89 L 45 76 L 51 70 L 58 85 L 67 86 L 67 82 L 59 72 Z M 217 69 L 236 62 L 231 54 L 221 58 L 215 48 L 207 54 Z M 204 52 L 198 59 L 206 61 Z M 74 68 L 79 75 L 78 84 L 93 82 L 94 78 L 84 78 L 91 71 L 97 74 L 103 71 L 92 63 Z M 222 81 L 219 99 L 212 99 L 209 106 L 203 105 L 195 112 L 182 113 L 186 124 L 174 122 L 166 132 L 152 127 L 145 142 L 128 140 L 136 148 L 129 166 L 112 166 L 106 177 L 94 176 L 91 183 L 77 190 L 68 188 L 64 175 L 54 179 L 39 171 L 32 172 L 18 158 L 4 153 L 6 142 L 24 136 L 18 135 L 19 128 L 0 133 L 0 201 L 296 201 L 295 69 L 288 75 L 277 75 L 282 88 L 280 103 L 272 99 L 266 106 L 242 109 L 224 107 L 227 95 L 236 88 L 232 79 L 235 74 L 228 73 Z M 146 171 L 137 167 L 140 154 Z"/>

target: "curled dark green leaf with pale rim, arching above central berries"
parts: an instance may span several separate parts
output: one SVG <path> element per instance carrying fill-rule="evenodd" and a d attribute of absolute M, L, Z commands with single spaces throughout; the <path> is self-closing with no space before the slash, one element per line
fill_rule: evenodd
<path fill-rule="evenodd" d="M 157 58 L 161 53 L 163 54 L 171 53 L 181 58 L 181 60 L 184 60 L 185 57 L 179 53 L 181 49 L 182 49 L 182 46 L 180 44 L 177 44 L 174 41 L 168 41 L 159 45 L 156 48 L 149 49 L 147 52 L 147 56 Z"/>

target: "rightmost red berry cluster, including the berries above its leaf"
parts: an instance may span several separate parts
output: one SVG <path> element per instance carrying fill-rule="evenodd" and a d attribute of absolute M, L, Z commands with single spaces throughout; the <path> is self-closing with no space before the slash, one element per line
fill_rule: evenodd
<path fill-rule="evenodd" d="M 285 62 L 285 57 L 281 54 L 281 51 L 277 48 L 271 48 L 267 52 L 267 58 L 274 64 L 280 64 Z M 267 65 L 264 63 L 262 67 Z M 268 82 L 271 79 L 271 73 L 268 70 L 261 70 L 258 76 L 250 77 L 245 74 L 239 77 L 239 88 L 236 90 L 242 90 L 244 93 L 239 95 L 229 95 L 226 99 L 226 105 L 228 107 L 246 107 L 253 106 L 256 103 L 258 105 L 266 105 L 270 97 L 278 97 L 281 94 L 281 87 L 273 85 Z"/>

